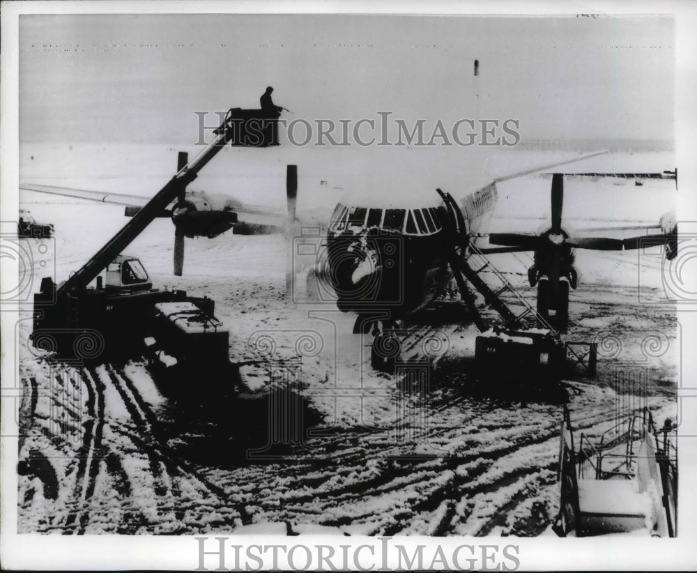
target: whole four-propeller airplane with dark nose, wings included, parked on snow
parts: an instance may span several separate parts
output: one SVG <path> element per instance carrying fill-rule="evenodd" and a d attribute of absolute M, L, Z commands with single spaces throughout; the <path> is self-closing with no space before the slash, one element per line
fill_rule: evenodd
<path fill-rule="evenodd" d="M 659 233 L 626 239 L 581 237 L 562 226 L 564 174 L 553 174 L 551 185 L 551 224 L 538 234 L 491 233 L 486 231 L 498 201 L 497 184 L 513 178 L 552 169 L 599 155 L 596 152 L 525 169 L 489 180 L 474 192 L 461 192 L 457 201 L 449 193 L 404 194 L 398 185 L 357 193 L 340 200 L 330 217 L 325 237 L 326 249 L 318 257 L 312 274 L 330 286 L 342 312 L 357 315 L 355 333 L 374 335 L 374 344 L 390 337 L 397 321 L 415 314 L 445 291 L 450 282 L 452 250 L 466 261 L 473 252 L 500 254 L 532 251 L 533 266 L 528 270 L 530 286 L 537 286 L 537 312 L 549 319 L 556 310 L 555 326 L 567 329 L 569 286 L 576 289 L 578 273 L 574 268 L 574 249 L 623 250 L 648 245 L 664 245 L 666 257 L 677 254 L 677 222 L 674 213 L 666 213 L 656 226 Z M 418 166 L 416 166 L 418 168 Z M 290 173 L 290 172 L 289 172 Z M 22 183 L 22 190 L 45 192 L 125 205 L 125 215 L 135 215 L 148 197 L 96 191 L 56 188 Z M 183 237 L 213 238 L 233 229 L 237 234 L 278 233 L 296 223 L 297 173 L 286 181 L 288 214 L 279 209 L 250 206 L 226 195 L 187 191 L 163 211 L 174 223 L 174 273 L 181 276 Z M 271 215 L 279 224 L 259 225 L 238 220 L 238 213 Z M 643 229 L 647 227 L 596 227 L 585 231 Z M 482 238 L 490 245 L 483 246 Z M 462 282 L 458 283 L 466 302 L 472 301 Z M 471 309 L 471 305 L 470 305 Z"/>

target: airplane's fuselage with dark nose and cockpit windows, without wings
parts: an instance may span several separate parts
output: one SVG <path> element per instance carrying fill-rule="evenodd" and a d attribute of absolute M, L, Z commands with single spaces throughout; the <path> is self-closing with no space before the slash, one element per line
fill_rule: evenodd
<path fill-rule="evenodd" d="M 492 183 L 461 199 L 466 234 L 486 227 L 497 197 Z M 411 208 L 339 203 L 328 230 L 324 271 L 339 310 L 399 320 L 441 295 L 450 280 L 447 216 L 434 201 Z"/>

